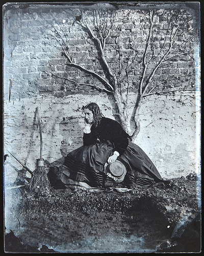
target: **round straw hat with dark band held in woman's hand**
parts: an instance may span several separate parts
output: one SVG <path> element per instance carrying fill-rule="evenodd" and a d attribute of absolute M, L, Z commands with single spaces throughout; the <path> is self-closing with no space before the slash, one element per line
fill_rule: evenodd
<path fill-rule="evenodd" d="M 120 161 L 115 160 L 113 163 L 105 163 L 104 169 L 106 175 L 112 178 L 114 181 L 121 182 L 124 180 L 126 168 Z"/>

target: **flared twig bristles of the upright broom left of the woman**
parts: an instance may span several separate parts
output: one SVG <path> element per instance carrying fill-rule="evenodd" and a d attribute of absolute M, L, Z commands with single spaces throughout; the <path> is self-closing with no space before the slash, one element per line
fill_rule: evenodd
<path fill-rule="evenodd" d="M 42 191 L 44 189 L 49 189 L 50 183 L 47 178 L 46 170 L 44 166 L 38 166 L 34 172 L 33 177 L 30 181 L 30 191 Z"/>

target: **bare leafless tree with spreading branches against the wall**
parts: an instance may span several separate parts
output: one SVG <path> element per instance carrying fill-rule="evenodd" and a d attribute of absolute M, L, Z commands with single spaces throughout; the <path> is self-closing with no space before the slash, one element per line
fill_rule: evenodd
<path fill-rule="evenodd" d="M 119 121 L 133 139 L 140 131 L 138 116 L 147 96 L 155 94 L 159 98 L 160 95 L 174 95 L 175 92 L 195 92 L 193 19 L 186 11 L 138 11 L 139 24 L 138 16 L 133 10 L 94 10 L 92 18 L 90 15 L 86 16 L 86 11 L 78 10 L 78 13 L 76 15 L 73 12 L 72 26 L 80 26 L 86 32 L 87 40 L 94 42 L 100 71 L 104 75 L 99 74 L 98 68 L 87 69 L 86 60 L 81 65 L 75 62 L 65 30 L 61 25 L 56 25 L 49 29 L 62 48 L 62 54 L 67 59 L 66 65 L 91 75 L 101 85 L 79 82 L 70 77 L 60 78 L 112 95 Z M 122 30 L 125 25 L 130 26 L 130 29 Z M 136 29 L 134 31 L 136 25 L 141 26 L 139 31 L 143 31 L 142 35 L 137 34 Z M 111 52 L 115 53 L 117 63 L 110 61 L 107 52 L 107 40 L 113 38 L 113 33 L 114 44 L 111 45 Z M 189 67 L 186 67 L 186 72 L 180 73 L 177 63 L 187 63 Z M 130 92 L 135 94 L 132 114 L 134 127 L 131 130 L 130 118 L 127 115 Z"/>

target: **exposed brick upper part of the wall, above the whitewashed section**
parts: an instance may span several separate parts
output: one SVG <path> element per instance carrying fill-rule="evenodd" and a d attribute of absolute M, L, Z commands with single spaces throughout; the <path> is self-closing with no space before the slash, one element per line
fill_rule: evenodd
<path fill-rule="evenodd" d="M 90 76 L 81 71 L 66 66 L 66 58 L 62 56 L 62 50 L 56 40 L 58 36 L 53 36 L 54 33 L 48 29 L 54 30 L 54 26 L 63 35 L 63 39 L 67 40 L 75 63 L 80 65 L 83 63 L 85 68 L 96 71 L 100 75 L 103 74 L 93 41 L 90 38 L 87 39 L 88 34 L 80 25 L 74 23 L 71 26 L 74 21 L 71 10 L 75 10 L 75 13 L 79 13 L 79 11 L 70 7 L 64 8 L 65 11 L 62 11 L 61 8 L 54 8 L 48 5 L 30 5 L 25 9 L 20 9 L 18 4 L 10 4 L 5 9 L 7 9 L 4 16 L 6 97 L 9 95 L 9 79 L 12 79 L 10 98 L 13 100 L 29 96 L 36 97 L 41 93 L 52 94 L 57 97 L 64 97 L 73 93 L 92 93 L 93 89 L 91 88 L 87 90 L 87 87 L 74 87 L 70 81 L 52 76 L 66 77 L 70 80 L 75 79 L 75 81 L 81 83 L 88 83 L 92 80 Z M 93 10 L 84 9 L 84 15 L 91 26 Z M 113 26 L 110 37 L 106 41 L 105 56 L 110 67 L 117 75 L 120 69 L 120 61 L 116 51 L 116 44 L 119 45 L 122 66 L 120 79 L 122 85 L 125 86 L 127 82 L 126 76 L 124 76 L 126 60 L 132 56 L 131 60 L 134 56 L 134 50 L 130 49 L 130 44 L 137 50 L 135 66 L 129 71 L 130 91 L 135 92 L 143 69 L 142 57 L 147 41 L 149 19 L 148 11 L 131 10 L 130 12 L 128 19 L 123 18 L 117 25 Z M 126 13 L 125 9 L 118 10 L 115 19 L 123 17 Z M 157 30 L 162 31 L 157 39 L 157 53 L 165 40 L 168 22 L 161 22 L 158 18 L 156 24 Z M 182 44 L 181 41 L 180 44 Z M 186 51 L 193 51 L 193 48 L 192 41 L 188 44 Z M 147 55 L 147 58 L 149 57 Z M 161 80 L 163 77 L 168 80 L 172 74 L 182 76 L 193 72 L 193 53 L 186 54 L 182 58 L 175 56 L 173 60 L 172 63 L 156 72 L 155 81 Z M 149 72 L 155 67 L 157 61 L 158 57 L 149 66 Z M 100 85 L 96 79 L 94 79 L 94 83 Z"/>

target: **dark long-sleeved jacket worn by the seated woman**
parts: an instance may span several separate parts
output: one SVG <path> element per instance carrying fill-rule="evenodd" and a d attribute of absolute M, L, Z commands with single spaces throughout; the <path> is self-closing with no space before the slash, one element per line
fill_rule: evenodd
<path fill-rule="evenodd" d="M 91 126 L 91 133 L 84 133 L 83 141 L 84 146 L 93 145 L 98 140 L 107 141 L 113 143 L 114 151 L 119 152 L 121 155 L 129 143 L 130 136 L 122 129 L 121 125 L 110 118 L 102 117 L 100 124 L 95 127 Z"/>

